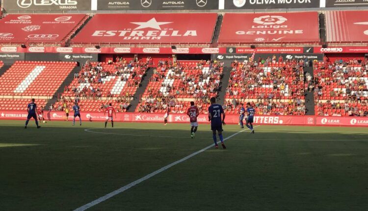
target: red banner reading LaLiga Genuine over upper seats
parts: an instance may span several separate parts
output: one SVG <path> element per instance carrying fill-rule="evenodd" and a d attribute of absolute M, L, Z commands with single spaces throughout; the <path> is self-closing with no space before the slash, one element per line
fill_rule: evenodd
<path fill-rule="evenodd" d="M 218 42 L 319 42 L 318 13 L 226 13 Z"/>

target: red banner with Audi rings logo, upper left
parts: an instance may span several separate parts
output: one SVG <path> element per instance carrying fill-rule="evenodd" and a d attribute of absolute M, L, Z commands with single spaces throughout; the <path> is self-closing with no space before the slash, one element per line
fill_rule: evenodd
<path fill-rule="evenodd" d="M 60 43 L 83 14 L 7 15 L 0 21 L 0 43 Z"/>

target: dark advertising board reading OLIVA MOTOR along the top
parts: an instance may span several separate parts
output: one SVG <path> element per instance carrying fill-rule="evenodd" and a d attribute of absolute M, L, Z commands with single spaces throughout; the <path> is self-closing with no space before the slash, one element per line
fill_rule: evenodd
<path fill-rule="evenodd" d="M 319 0 L 225 0 L 225 9 L 317 8 Z"/>

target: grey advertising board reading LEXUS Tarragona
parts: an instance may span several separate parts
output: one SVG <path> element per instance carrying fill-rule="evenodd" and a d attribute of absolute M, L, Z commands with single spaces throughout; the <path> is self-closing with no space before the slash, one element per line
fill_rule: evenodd
<path fill-rule="evenodd" d="M 2 0 L 6 11 L 91 10 L 91 0 Z"/>

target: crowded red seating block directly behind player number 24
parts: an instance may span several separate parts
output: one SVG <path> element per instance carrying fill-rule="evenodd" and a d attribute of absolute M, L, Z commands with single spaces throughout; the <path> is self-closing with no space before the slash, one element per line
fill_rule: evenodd
<path fill-rule="evenodd" d="M 145 90 L 136 112 L 164 112 L 167 105 L 173 113 L 184 113 L 194 100 L 200 113 L 207 113 L 209 98 L 217 97 L 223 63 L 161 61 Z"/>

